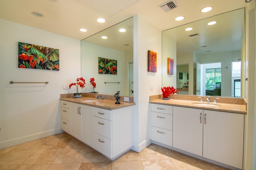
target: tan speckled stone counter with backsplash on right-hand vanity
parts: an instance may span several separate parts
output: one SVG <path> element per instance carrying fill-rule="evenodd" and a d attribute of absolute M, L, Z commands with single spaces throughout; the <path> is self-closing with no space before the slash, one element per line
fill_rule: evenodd
<path fill-rule="evenodd" d="M 200 104 L 200 98 L 198 97 L 203 98 L 204 102 L 202 104 L 207 104 L 207 96 L 192 95 L 170 95 L 170 100 L 162 100 L 162 95 L 155 95 L 150 96 L 150 103 L 247 114 L 247 105 L 244 99 L 210 96 L 210 104 L 213 104 L 214 98 L 219 98 L 216 106 L 199 106 L 197 105 Z"/>

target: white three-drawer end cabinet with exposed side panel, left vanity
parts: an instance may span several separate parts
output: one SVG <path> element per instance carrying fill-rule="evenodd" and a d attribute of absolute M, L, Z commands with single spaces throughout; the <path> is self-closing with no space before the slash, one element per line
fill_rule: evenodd
<path fill-rule="evenodd" d="M 133 107 L 94 107 L 93 148 L 114 160 L 133 146 Z"/>

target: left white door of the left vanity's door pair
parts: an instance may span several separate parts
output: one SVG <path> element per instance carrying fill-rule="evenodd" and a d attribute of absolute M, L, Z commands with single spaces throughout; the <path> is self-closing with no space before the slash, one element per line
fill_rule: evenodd
<path fill-rule="evenodd" d="M 79 104 L 70 104 L 70 133 L 72 136 L 80 139 L 81 129 L 81 106 Z"/>

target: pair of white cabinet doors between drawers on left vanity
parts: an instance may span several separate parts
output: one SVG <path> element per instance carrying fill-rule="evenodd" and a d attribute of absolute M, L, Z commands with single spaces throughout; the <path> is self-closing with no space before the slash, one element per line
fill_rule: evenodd
<path fill-rule="evenodd" d="M 70 103 L 70 135 L 92 146 L 93 140 L 93 107 L 82 104 Z"/>

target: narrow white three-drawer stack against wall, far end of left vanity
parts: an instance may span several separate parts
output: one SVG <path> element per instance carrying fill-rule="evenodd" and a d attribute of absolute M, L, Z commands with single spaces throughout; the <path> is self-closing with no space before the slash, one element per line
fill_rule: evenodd
<path fill-rule="evenodd" d="M 60 121 L 61 129 L 67 133 L 70 133 L 70 103 L 60 101 Z"/>

